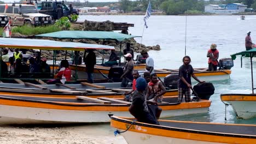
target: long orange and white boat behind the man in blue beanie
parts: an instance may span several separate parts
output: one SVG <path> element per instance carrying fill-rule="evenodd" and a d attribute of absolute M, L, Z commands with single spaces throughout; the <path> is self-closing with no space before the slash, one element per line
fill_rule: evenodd
<path fill-rule="evenodd" d="M 178 97 L 165 97 L 159 106 L 161 117 L 172 117 L 203 113 L 208 111 L 210 100 L 194 103 L 177 103 Z M 35 123 L 95 123 L 109 122 L 108 114 L 129 117 L 130 102 L 112 98 L 75 98 L 25 97 L 0 95 L 1 124 Z"/>

